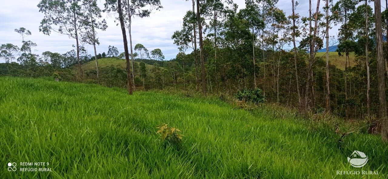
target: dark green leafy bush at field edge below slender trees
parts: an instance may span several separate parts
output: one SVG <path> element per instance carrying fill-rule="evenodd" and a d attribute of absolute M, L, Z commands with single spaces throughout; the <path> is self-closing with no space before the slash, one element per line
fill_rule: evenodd
<path fill-rule="evenodd" d="M 252 102 L 255 104 L 265 102 L 263 90 L 260 88 L 256 88 L 254 90 L 244 88 L 242 90 L 237 91 L 234 96 L 237 98 L 237 100 L 244 102 Z"/>

